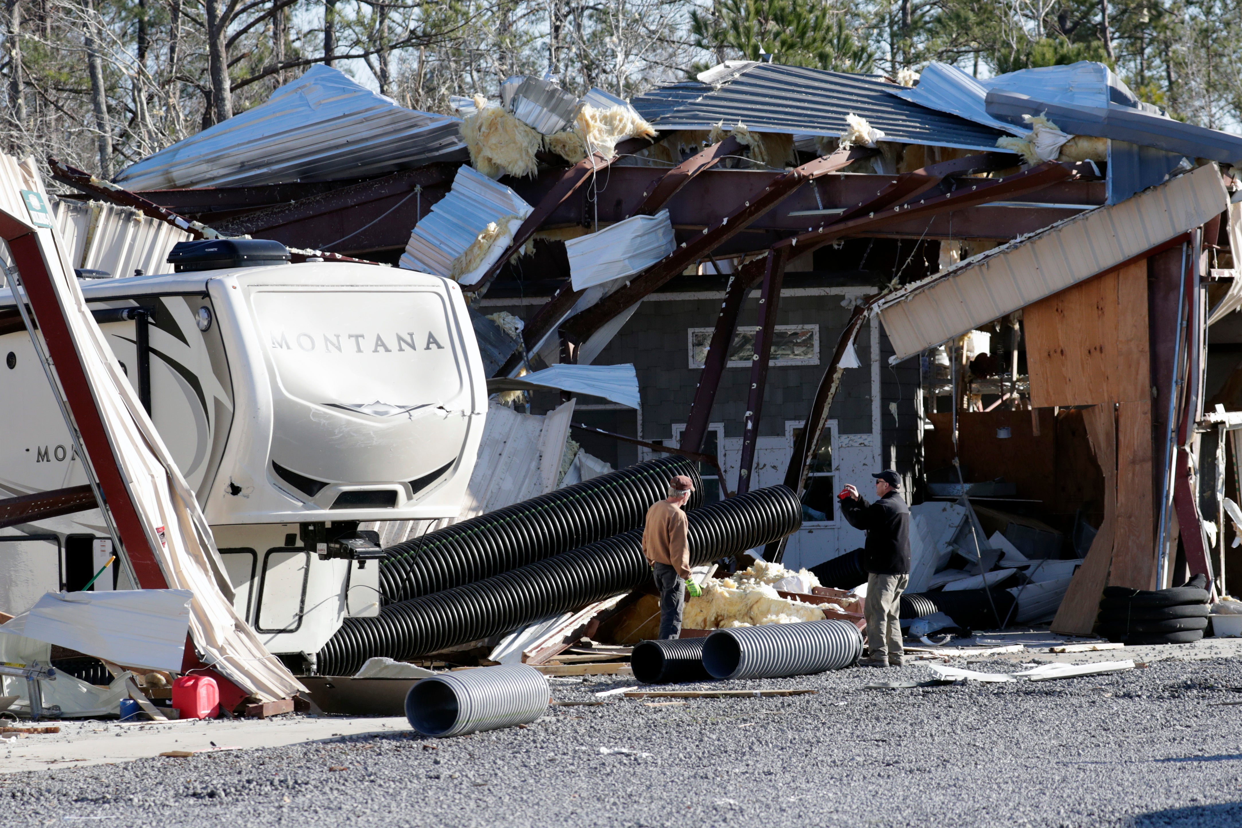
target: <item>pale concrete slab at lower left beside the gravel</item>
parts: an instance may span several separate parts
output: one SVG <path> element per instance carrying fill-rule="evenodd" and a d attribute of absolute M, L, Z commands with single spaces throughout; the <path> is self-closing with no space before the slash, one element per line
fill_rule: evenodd
<path fill-rule="evenodd" d="M 17 726 L 29 724 L 21 722 Z M 39 724 L 58 725 L 61 732 L 0 739 L 0 756 L 4 757 L 0 761 L 0 773 L 130 762 L 170 750 L 283 747 L 337 737 L 410 731 L 410 722 L 405 716 L 288 715 L 233 721 L 190 719 L 169 724 L 96 720 Z M 193 762 L 194 758 L 166 761 Z"/>

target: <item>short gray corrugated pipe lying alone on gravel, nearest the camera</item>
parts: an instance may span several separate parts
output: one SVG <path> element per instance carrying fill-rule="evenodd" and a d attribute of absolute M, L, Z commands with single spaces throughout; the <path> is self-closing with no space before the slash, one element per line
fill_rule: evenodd
<path fill-rule="evenodd" d="M 550 698 L 548 679 L 533 667 L 478 667 L 415 684 L 405 718 L 424 736 L 461 736 L 534 721 Z"/>

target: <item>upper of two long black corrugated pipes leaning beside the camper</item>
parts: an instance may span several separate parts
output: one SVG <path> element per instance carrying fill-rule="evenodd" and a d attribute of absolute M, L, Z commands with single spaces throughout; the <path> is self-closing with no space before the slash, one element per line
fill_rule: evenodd
<path fill-rule="evenodd" d="M 578 549 L 641 526 L 647 509 L 668 497 L 668 482 L 694 482 L 687 510 L 703 503 L 694 463 L 661 457 L 427 533 L 384 550 L 380 596 L 409 601 Z"/>

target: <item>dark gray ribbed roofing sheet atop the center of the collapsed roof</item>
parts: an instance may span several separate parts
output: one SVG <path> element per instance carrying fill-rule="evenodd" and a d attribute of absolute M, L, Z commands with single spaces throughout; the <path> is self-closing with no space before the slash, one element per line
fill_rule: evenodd
<path fill-rule="evenodd" d="M 1006 133 L 889 94 L 893 84 L 867 74 L 756 63 L 719 84 L 684 81 L 632 101 L 653 127 L 710 129 L 741 122 L 751 132 L 837 138 L 853 113 L 886 139 L 910 144 L 995 149 Z"/>

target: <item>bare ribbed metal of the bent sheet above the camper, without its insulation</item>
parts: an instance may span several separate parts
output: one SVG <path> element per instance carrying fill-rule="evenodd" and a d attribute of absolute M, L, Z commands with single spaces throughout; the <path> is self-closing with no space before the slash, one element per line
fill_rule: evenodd
<path fill-rule="evenodd" d="M 517 192 L 463 164 L 457 168 L 448 195 L 410 232 L 401 267 L 447 277 L 453 259 L 465 253 L 489 223 L 505 216 L 525 218 L 532 210 Z"/>

